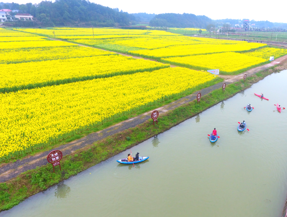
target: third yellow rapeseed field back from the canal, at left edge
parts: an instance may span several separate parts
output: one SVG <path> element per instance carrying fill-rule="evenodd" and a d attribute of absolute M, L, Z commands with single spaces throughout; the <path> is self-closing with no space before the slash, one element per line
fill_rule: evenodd
<path fill-rule="evenodd" d="M 2 49 L 0 50 L 0 64 L 115 54 L 114 52 L 83 46 Z"/>

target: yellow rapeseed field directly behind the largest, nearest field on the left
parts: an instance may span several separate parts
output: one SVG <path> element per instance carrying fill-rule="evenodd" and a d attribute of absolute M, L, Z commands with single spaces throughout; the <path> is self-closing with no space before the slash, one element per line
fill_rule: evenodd
<path fill-rule="evenodd" d="M 169 64 L 118 54 L 1 64 L 1 70 L 5 73 L 0 74 L 0 92 L 152 71 L 165 67 L 169 67 Z"/>

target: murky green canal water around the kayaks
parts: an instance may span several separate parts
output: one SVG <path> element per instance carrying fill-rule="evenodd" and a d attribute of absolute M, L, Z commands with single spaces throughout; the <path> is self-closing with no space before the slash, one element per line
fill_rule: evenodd
<path fill-rule="evenodd" d="M 127 150 L 0 216 L 282 215 L 287 196 L 287 70 L 133 147 L 150 158 L 122 165 Z M 263 100 L 254 93 L 264 93 Z M 243 107 L 248 103 L 251 112 Z M 237 131 L 238 121 L 247 128 Z M 220 139 L 207 137 L 216 127 Z"/>

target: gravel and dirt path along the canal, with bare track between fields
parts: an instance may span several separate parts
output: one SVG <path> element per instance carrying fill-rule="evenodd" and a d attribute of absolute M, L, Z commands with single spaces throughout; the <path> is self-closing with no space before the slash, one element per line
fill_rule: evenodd
<path fill-rule="evenodd" d="M 89 46 L 87 46 L 87 47 L 89 47 Z M 118 53 L 118 54 L 121 54 L 121 53 Z M 121 55 L 127 55 L 127 54 L 121 54 Z M 127 55 L 127 56 L 131 56 L 131 55 Z M 142 57 L 137 57 L 137 56 L 132 56 L 132 57 L 142 58 Z M 146 59 L 146 58 L 143 58 L 143 59 Z M 220 75 L 220 77 L 225 78 L 224 82 L 226 84 L 233 83 L 233 82 L 239 81 L 239 79 L 243 79 L 243 76 L 245 73 L 247 74 L 247 76 L 250 76 L 250 75 L 257 73 L 261 70 L 264 70 L 266 68 L 270 68 L 273 65 L 282 63 L 286 59 L 287 59 L 287 55 L 280 57 L 280 58 L 276 59 L 275 61 L 273 61 L 269 64 L 258 66 L 256 68 L 253 68 L 253 69 L 250 69 L 246 72 L 243 72 L 239 75 L 231 75 L 231 76 Z M 152 59 L 148 59 L 148 60 L 155 61 Z M 174 66 L 174 67 L 176 67 L 176 66 Z M 212 85 L 210 87 L 207 87 L 207 88 L 200 90 L 199 92 L 201 92 L 202 96 L 204 96 L 204 95 L 212 92 L 213 90 L 221 88 L 222 84 L 223 84 L 223 82 Z M 160 108 L 157 108 L 155 110 L 159 111 L 160 114 L 163 114 L 163 113 L 170 111 L 170 110 L 173 110 L 173 109 L 175 109 L 175 108 L 177 108 L 177 107 L 179 107 L 185 103 L 188 103 L 190 101 L 195 100 L 196 95 L 197 95 L 197 92 L 194 94 L 191 94 L 189 96 L 183 97 L 177 101 L 171 102 L 171 103 L 169 103 L 165 106 L 162 106 Z M 83 148 L 87 145 L 93 144 L 94 142 L 101 140 L 101 139 L 104 139 L 107 136 L 121 132 L 121 131 L 129 129 L 131 127 L 135 127 L 136 125 L 142 124 L 143 122 L 150 119 L 151 112 L 152 111 L 146 112 L 142 115 L 136 116 L 136 117 L 131 118 L 129 120 L 125 120 L 125 121 L 122 121 L 116 125 L 110 126 L 104 130 L 88 134 L 87 136 L 85 136 L 81 139 L 77 139 L 77 140 L 72 141 L 70 143 L 63 144 L 63 145 L 57 147 L 57 149 L 61 150 L 63 155 L 70 154 L 77 149 L 80 149 L 80 148 Z M 48 150 L 46 152 L 37 153 L 34 156 L 26 157 L 22 160 L 17 160 L 16 162 L 13 162 L 13 163 L 2 163 L 0 165 L 0 182 L 6 182 L 7 180 L 16 177 L 17 175 L 19 175 L 22 172 L 25 172 L 25 171 L 30 170 L 30 169 L 34 169 L 34 168 L 42 166 L 42 165 L 46 165 L 47 164 L 46 157 L 47 157 L 48 153 L 50 153 L 52 150 L 54 150 L 54 149 Z"/>

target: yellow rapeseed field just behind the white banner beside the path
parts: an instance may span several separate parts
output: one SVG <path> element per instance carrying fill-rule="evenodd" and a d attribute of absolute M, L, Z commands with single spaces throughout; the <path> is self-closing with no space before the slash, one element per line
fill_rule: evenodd
<path fill-rule="evenodd" d="M 220 74 L 238 74 L 247 68 L 266 62 L 265 59 L 259 57 L 247 56 L 235 52 L 170 57 L 163 58 L 162 60 L 170 64 L 178 64 L 194 69 L 219 69 Z"/>

